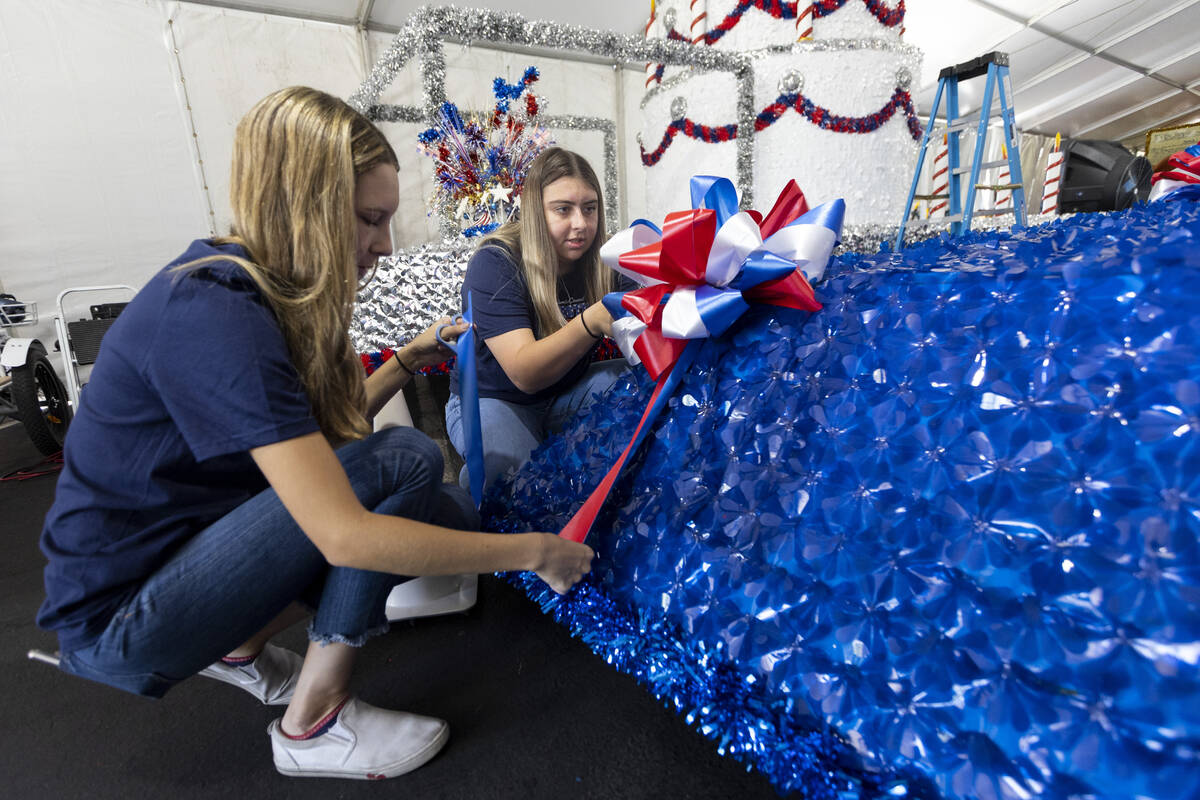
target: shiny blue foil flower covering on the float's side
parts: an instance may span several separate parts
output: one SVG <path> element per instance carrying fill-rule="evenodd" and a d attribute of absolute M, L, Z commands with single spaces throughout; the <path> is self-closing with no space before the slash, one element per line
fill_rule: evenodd
<path fill-rule="evenodd" d="M 1200 796 L 1200 204 L 846 254 L 700 347 L 564 599 L 810 798 Z M 554 530 L 632 374 L 485 498 Z"/>

